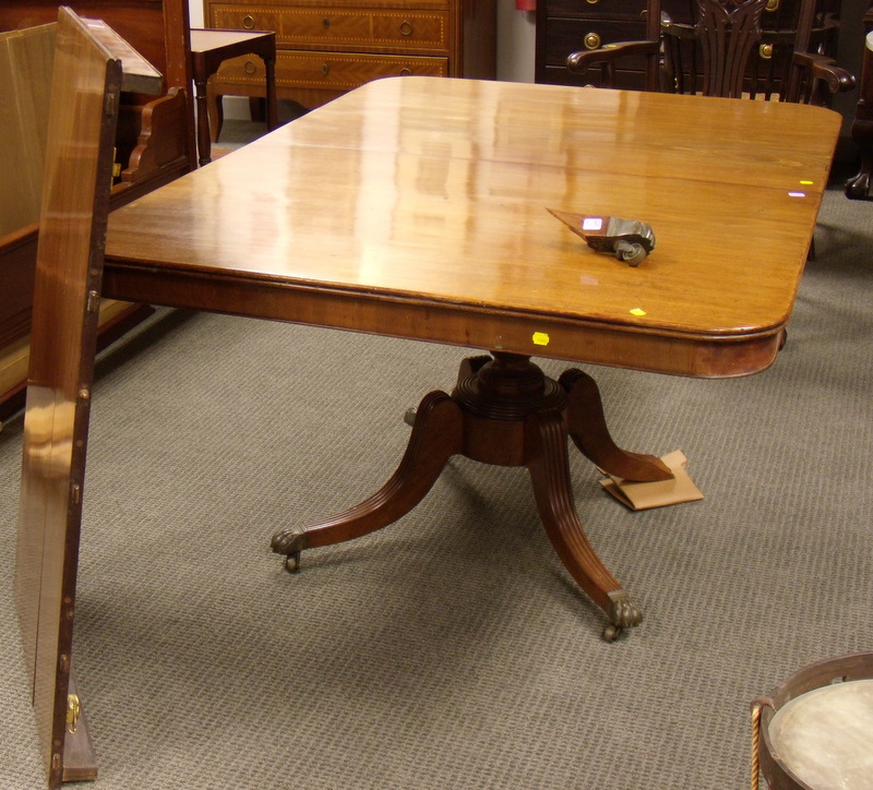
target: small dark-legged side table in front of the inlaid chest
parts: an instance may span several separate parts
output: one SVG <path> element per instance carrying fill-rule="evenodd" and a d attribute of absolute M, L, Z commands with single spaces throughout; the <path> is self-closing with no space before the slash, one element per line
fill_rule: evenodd
<path fill-rule="evenodd" d="M 198 105 L 198 153 L 200 164 L 212 161 L 206 83 L 218 67 L 240 55 L 256 55 L 266 70 L 266 128 L 278 125 L 276 109 L 276 34 L 271 31 L 191 29 L 191 63 Z"/>

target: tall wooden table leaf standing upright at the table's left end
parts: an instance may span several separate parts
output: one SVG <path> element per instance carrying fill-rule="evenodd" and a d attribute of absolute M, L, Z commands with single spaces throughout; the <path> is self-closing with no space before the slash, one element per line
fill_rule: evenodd
<path fill-rule="evenodd" d="M 72 642 L 112 152 L 121 92 L 157 93 L 163 82 L 105 23 L 69 8 L 58 11 L 55 52 L 15 558 L 22 643 L 50 788 L 96 777 Z"/>

